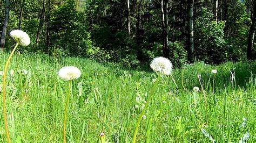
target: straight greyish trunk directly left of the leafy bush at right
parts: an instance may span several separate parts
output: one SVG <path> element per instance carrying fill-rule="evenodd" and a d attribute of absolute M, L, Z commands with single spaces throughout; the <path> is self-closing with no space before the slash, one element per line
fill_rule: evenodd
<path fill-rule="evenodd" d="M 188 16 L 189 16 L 189 45 L 188 45 L 188 51 L 187 51 L 187 61 L 189 63 L 194 62 L 194 0 L 189 0 L 188 3 Z"/>

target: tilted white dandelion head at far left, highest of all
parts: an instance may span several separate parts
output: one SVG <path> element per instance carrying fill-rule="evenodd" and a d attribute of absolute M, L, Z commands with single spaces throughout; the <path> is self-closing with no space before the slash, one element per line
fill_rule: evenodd
<path fill-rule="evenodd" d="M 28 46 L 30 44 L 29 35 L 21 30 L 12 30 L 10 36 L 15 39 L 15 41 L 20 42 L 22 46 Z"/>

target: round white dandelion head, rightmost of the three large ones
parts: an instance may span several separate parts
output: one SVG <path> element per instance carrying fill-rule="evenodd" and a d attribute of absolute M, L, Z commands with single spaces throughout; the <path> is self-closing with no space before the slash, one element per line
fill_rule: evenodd
<path fill-rule="evenodd" d="M 163 57 L 154 58 L 152 62 L 150 63 L 150 67 L 155 72 L 160 72 L 164 75 L 170 75 L 172 71 L 172 63 Z"/>

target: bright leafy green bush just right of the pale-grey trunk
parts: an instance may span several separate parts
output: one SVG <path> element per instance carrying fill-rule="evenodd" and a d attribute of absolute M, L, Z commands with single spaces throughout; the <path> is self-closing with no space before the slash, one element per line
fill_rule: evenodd
<path fill-rule="evenodd" d="M 212 20 L 212 13 L 202 9 L 195 20 L 194 51 L 196 59 L 206 63 L 222 63 L 228 59 L 228 48 L 224 38 L 225 22 Z"/>

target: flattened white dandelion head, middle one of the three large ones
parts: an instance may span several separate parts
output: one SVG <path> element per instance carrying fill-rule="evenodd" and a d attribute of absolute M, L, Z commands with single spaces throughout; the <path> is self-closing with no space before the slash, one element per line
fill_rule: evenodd
<path fill-rule="evenodd" d="M 59 70 L 59 77 L 63 80 L 74 80 L 80 77 L 81 71 L 77 67 L 68 66 Z"/>

